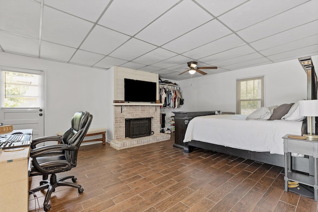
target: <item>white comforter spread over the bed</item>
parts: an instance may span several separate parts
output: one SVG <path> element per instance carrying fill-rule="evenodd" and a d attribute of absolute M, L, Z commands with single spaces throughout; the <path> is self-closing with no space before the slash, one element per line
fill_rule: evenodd
<path fill-rule="evenodd" d="M 183 142 L 214 143 L 251 151 L 284 154 L 282 137 L 301 135 L 302 121 L 246 120 L 245 115 L 212 115 L 193 118 Z"/>

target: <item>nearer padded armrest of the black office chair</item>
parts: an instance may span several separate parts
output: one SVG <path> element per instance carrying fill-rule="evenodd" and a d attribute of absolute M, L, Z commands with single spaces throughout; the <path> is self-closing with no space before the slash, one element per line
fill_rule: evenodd
<path fill-rule="evenodd" d="M 31 157 L 46 157 L 48 154 L 61 154 L 62 150 L 75 151 L 78 150 L 77 146 L 68 144 L 55 144 L 47 146 L 39 146 L 30 151 Z"/>

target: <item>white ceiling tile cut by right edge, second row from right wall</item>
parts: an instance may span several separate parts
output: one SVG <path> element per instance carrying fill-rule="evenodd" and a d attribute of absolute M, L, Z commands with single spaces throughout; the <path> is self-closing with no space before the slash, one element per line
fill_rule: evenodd
<path fill-rule="evenodd" d="M 318 34 L 312 35 L 312 36 L 309 36 L 309 37 L 306 37 L 303 39 L 299 39 L 296 41 L 292 41 L 292 42 L 289 42 L 286 44 L 282 44 L 282 45 L 279 45 L 276 47 L 272 47 L 269 49 L 265 49 L 263 51 L 260 51 L 260 53 L 262 55 L 265 55 L 265 56 L 274 55 L 277 53 L 282 53 L 282 52 L 287 52 L 287 51 L 291 51 L 294 49 L 299 49 L 299 48 L 302 48 L 304 46 L 311 46 L 312 44 L 317 43 L 317 41 L 318 41 Z"/>

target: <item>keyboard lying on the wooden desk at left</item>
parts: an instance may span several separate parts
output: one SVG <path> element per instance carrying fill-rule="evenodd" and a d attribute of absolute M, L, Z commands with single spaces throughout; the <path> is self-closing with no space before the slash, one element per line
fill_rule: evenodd
<path fill-rule="evenodd" d="M 30 137 L 31 135 L 29 134 L 13 134 L 6 137 L 1 137 L 0 148 L 7 149 L 29 146 Z"/>

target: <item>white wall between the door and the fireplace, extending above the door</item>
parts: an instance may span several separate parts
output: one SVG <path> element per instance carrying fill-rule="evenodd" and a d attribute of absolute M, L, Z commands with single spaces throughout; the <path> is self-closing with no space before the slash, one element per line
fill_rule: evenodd
<path fill-rule="evenodd" d="M 67 130 L 77 111 L 93 115 L 91 128 L 107 128 L 106 71 L 0 52 L 0 65 L 45 71 L 44 134 Z"/>

